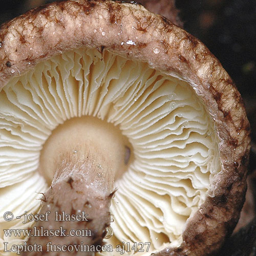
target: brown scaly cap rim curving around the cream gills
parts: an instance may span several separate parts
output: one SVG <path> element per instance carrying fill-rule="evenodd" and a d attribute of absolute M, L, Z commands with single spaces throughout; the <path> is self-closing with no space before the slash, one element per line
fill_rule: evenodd
<path fill-rule="evenodd" d="M 194 36 L 141 5 L 65 1 L 31 10 L 1 27 L 1 89 L 37 63 L 82 47 L 147 62 L 189 83 L 202 100 L 220 141 L 221 172 L 187 220 L 181 246 L 156 255 L 198 256 L 218 250 L 240 216 L 250 142 L 241 95 L 221 63 Z"/>

